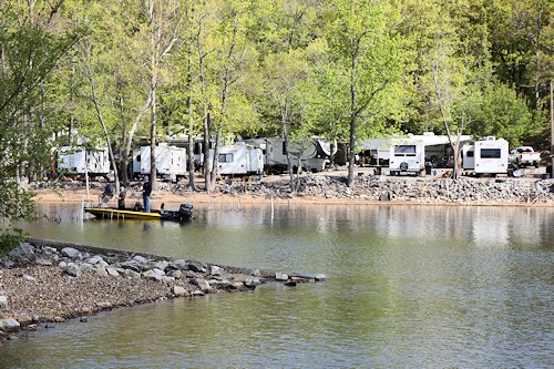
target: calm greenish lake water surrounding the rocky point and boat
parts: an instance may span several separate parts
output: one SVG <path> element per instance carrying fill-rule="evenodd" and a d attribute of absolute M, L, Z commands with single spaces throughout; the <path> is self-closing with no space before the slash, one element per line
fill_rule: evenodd
<path fill-rule="evenodd" d="M 39 212 L 33 237 L 328 279 L 70 321 L 0 347 L 0 367 L 554 367 L 554 208 L 201 204 L 184 225 Z"/>

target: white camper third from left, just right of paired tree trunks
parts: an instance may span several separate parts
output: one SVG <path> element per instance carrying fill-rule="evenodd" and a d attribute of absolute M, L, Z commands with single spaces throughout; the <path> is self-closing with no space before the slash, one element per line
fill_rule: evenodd
<path fill-rule="evenodd" d="M 214 150 L 209 151 L 213 161 Z M 219 148 L 217 173 L 222 175 L 250 175 L 264 172 L 261 148 L 248 145 L 243 141 Z"/>

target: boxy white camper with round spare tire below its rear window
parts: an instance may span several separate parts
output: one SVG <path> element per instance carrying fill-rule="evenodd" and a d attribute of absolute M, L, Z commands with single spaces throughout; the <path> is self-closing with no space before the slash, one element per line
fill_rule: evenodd
<path fill-rule="evenodd" d="M 425 146 L 419 140 L 393 140 L 390 146 L 389 170 L 390 175 L 424 173 Z"/>

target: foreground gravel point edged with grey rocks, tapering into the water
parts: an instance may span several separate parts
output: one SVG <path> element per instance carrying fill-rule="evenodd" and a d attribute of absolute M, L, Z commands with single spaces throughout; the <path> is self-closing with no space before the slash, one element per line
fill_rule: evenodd
<path fill-rule="evenodd" d="M 29 239 L 0 258 L 0 344 L 66 319 L 86 321 L 102 310 L 309 280 L 325 276 Z"/>

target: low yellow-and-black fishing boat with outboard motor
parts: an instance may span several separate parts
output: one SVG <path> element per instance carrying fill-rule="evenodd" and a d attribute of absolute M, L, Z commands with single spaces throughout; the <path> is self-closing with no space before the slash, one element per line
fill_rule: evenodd
<path fill-rule="evenodd" d="M 181 204 L 178 211 L 162 209 L 150 213 L 136 209 L 113 208 L 113 207 L 85 207 L 84 211 L 99 218 L 105 219 L 142 219 L 142 221 L 174 221 L 185 222 L 193 218 L 193 204 Z"/>

